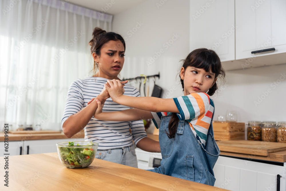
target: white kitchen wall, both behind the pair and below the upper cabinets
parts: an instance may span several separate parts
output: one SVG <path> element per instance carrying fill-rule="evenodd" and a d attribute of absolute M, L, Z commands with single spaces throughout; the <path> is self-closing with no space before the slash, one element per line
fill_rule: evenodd
<path fill-rule="evenodd" d="M 160 80 L 156 84 L 164 88 L 162 97 L 178 97 L 182 95 L 182 88 L 175 78 L 180 68 L 179 60 L 189 53 L 190 6 L 188 0 L 178 0 L 166 1 L 158 8 L 156 3 L 159 2 L 146 1 L 114 15 L 113 30 L 126 39 L 126 60 L 121 77 L 153 75 L 160 71 Z M 143 25 L 139 27 L 137 22 Z M 134 29 L 132 34 L 129 30 L 136 25 L 138 29 Z M 166 49 L 164 43 L 172 39 L 173 34 L 179 37 Z M 148 66 L 146 61 L 150 61 L 150 57 L 160 49 L 164 52 L 154 64 Z M 215 119 L 217 115 L 225 115 L 229 109 L 237 110 L 242 122 L 286 121 L 286 79 L 279 85 L 272 84 L 277 80 L 279 82 L 285 70 L 286 64 L 227 71 L 226 83 L 220 87 L 218 94 L 212 96 L 216 106 Z M 268 89 L 271 92 L 259 103 L 258 97 L 264 98 L 263 92 Z M 152 87 L 149 87 L 151 90 Z M 255 105 L 254 101 L 259 104 Z"/>

